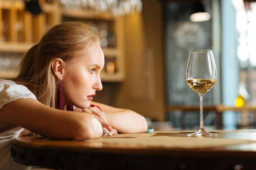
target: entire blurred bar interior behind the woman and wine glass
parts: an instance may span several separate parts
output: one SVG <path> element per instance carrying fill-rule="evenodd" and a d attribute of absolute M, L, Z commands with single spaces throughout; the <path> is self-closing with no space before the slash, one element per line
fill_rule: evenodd
<path fill-rule="evenodd" d="M 256 2 L 0 0 L 0 78 L 14 77 L 23 54 L 65 21 L 100 34 L 105 66 L 96 102 L 134 110 L 149 128 L 197 130 L 199 97 L 185 70 L 190 50 L 210 49 L 218 78 L 204 95 L 205 128 L 256 128 Z"/>

